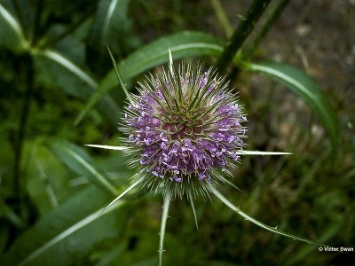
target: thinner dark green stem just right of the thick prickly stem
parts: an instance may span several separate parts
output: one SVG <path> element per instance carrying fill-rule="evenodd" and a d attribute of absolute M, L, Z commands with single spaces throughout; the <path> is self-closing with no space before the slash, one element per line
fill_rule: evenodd
<path fill-rule="evenodd" d="M 276 20 L 279 19 L 280 14 L 288 5 L 289 1 L 290 0 L 281 0 L 280 3 L 275 7 L 275 9 L 270 13 L 264 24 L 264 27 L 256 35 L 256 38 L 254 39 L 253 43 L 251 43 L 247 51 L 243 52 L 244 59 L 249 59 L 253 55 L 254 51 L 256 51 L 257 46 L 264 40 L 264 37 L 272 28 L 272 25 L 275 23 Z"/>

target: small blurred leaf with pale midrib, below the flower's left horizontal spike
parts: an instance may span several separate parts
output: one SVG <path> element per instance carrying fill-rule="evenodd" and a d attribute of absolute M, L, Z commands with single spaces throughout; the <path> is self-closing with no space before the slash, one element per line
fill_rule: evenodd
<path fill-rule="evenodd" d="M 99 171 L 98 167 L 95 166 L 94 160 L 82 148 L 67 141 L 53 141 L 49 143 L 49 147 L 59 160 L 64 162 L 75 173 L 85 176 L 91 183 L 98 184 L 113 195 L 117 194 L 114 185 L 108 181 L 108 176 Z"/>

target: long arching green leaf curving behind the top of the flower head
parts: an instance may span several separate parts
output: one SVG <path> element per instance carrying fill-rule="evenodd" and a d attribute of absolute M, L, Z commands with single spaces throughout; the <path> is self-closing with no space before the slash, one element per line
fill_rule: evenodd
<path fill-rule="evenodd" d="M 127 82 L 130 78 L 142 74 L 154 66 L 160 66 L 168 62 L 169 49 L 174 59 L 182 59 L 196 56 L 218 56 L 223 50 L 223 45 L 222 41 L 216 36 L 200 32 L 186 31 L 162 37 L 138 49 L 127 59 L 118 63 L 117 69 L 122 76 L 122 81 Z M 100 82 L 99 90 L 92 95 L 83 111 L 75 119 L 75 124 L 82 121 L 91 108 L 99 102 L 99 99 L 103 98 L 117 84 L 117 78 L 114 70 L 112 70 Z M 123 98 L 124 94 L 122 92 Z"/>

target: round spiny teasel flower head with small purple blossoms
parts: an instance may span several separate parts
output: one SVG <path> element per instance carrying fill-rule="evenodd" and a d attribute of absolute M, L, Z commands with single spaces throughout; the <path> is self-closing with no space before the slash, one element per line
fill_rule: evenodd
<path fill-rule="evenodd" d="M 170 64 L 139 83 L 139 95 L 125 108 L 123 141 L 133 165 L 146 175 L 144 185 L 180 196 L 206 195 L 225 181 L 243 147 L 246 116 L 237 97 L 216 71 Z"/>

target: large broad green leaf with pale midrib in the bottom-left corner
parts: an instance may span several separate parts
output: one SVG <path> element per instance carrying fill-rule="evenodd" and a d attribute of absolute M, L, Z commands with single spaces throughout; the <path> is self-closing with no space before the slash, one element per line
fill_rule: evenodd
<path fill-rule="evenodd" d="M 92 200 L 93 197 L 95 200 Z M 52 254 L 58 252 L 57 249 L 51 250 L 53 246 L 62 244 L 66 239 L 75 238 L 75 233 L 87 229 L 94 223 L 103 223 L 101 226 L 106 226 L 108 214 L 112 214 L 114 209 L 124 204 L 122 200 L 105 214 L 98 216 L 108 200 L 109 197 L 105 192 L 93 186 L 80 192 L 50 214 L 45 215 L 34 227 L 22 234 L 4 255 L 2 262 L 4 265 L 41 265 L 37 260 L 42 262 L 44 260 L 52 264 Z M 90 202 L 90 204 L 83 205 L 83 202 Z M 102 234 L 102 237 L 107 237 L 105 231 Z M 72 260 L 75 262 L 75 256 Z"/>

